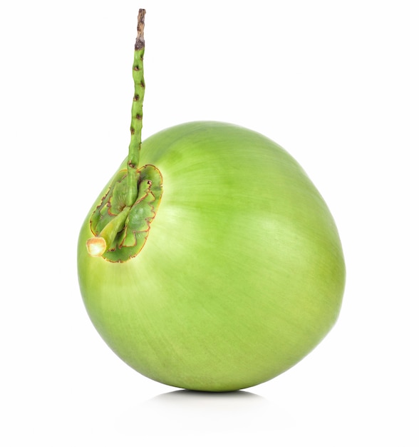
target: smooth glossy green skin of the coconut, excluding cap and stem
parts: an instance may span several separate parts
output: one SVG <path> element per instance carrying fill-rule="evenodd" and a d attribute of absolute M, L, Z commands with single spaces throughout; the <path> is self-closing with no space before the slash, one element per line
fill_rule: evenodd
<path fill-rule="evenodd" d="M 192 122 L 143 142 L 163 194 L 135 258 L 88 256 L 81 293 L 110 348 L 145 376 L 233 391 L 309 353 L 338 317 L 345 266 L 324 200 L 280 146 L 247 129 Z M 125 166 L 125 161 L 121 168 Z"/>

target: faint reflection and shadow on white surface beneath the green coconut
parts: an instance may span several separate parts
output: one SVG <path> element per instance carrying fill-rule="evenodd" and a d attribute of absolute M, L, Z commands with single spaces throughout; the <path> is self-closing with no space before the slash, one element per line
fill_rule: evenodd
<path fill-rule="evenodd" d="M 289 426 L 289 417 L 266 398 L 247 391 L 205 393 L 178 390 L 140 404 L 130 415 L 130 432 L 141 439 L 179 436 L 254 435 Z M 134 417 L 134 418 L 133 418 Z M 125 420 L 125 428 L 128 421 Z M 125 430 L 126 432 L 126 430 Z"/>

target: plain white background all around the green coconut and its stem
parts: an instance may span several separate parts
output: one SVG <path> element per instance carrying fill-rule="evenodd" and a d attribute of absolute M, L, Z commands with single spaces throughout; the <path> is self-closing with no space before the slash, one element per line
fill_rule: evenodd
<path fill-rule="evenodd" d="M 417 1 L 17 0 L 0 6 L 2 446 L 418 446 Z M 247 391 L 150 381 L 83 307 L 78 229 L 128 153 L 138 8 L 143 136 L 229 121 L 329 204 L 338 323 Z"/>

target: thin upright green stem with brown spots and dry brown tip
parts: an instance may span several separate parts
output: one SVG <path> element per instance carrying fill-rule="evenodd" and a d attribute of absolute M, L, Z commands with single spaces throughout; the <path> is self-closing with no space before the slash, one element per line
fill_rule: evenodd
<path fill-rule="evenodd" d="M 138 164 L 140 162 L 141 131 L 143 129 L 143 101 L 145 92 L 144 57 L 144 18 L 145 9 L 138 11 L 137 39 L 135 40 L 133 79 L 134 98 L 131 109 L 131 141 L 128 153 L 128 179 L 125 205 L 132 206 L 138 196 Z"/>

